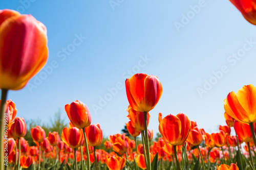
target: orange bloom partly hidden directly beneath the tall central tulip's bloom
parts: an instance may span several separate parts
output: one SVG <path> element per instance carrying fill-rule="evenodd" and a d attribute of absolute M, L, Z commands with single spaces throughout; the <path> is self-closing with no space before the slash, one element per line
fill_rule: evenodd
<path fill-rule="evenodd" d="M 130 105 L 128 106 L 127 111 L 129 114 L 127 118 L 131 120 L 131 125 L 134 127 L 136 131 L 144 131 L 144 113 L 134 110 Z M 150 123 L 150 113 L 147 112 L 147 126 Z"/>

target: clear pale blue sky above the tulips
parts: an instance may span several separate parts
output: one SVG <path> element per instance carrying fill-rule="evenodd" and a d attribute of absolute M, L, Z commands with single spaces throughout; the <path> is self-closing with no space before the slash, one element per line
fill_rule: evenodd
<path fill-rule="evenodd" d="M 10 91 L 17 115 L 48 123 L 65 105 L 86 104 L 105 136 L 128 122 L 124 81 L 156 75 L 162 97 L 150 112 L 184 112 L 206 132 L 225 125 L 223 100 L 256 85 L 256 27 L 227 0 L 1 1 L 1 9 L 31 14 L 48 31 L 45 69 Z"/>

